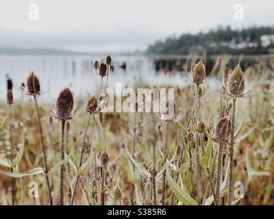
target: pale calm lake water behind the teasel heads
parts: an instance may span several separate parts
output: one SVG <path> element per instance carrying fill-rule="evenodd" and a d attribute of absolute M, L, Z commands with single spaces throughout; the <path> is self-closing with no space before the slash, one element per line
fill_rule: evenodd
<path fill-rule="evenodd" d="M 6 95 L 6 78 L 10 75 L 14 82 L 14 99 L 21 99 L 20 85 L 25 82 L 29 71 L 34 71 L 40 78 L 42 94 L 41 101 L 55 101 L 60 90 L 71 88 L 75 96 L 95 94 L 101 85 L 101 77 L 93 68 L 91 61 L 101 60 L 99 55 L 92 56 L 0 56 L 0 99 Z M 153 86 L 168 83 L 173 86 L 186 86 L 190 80 L 182 73 L 164 75 L 155 73 L 153 60 L 146 56 L 114 55 L 114 71 L 109 76 L 109 87 L 115 88 L 116 82 L 122 86 L 134 86 L 142 79 Z M 123 70 L 119 66 L 126 63 Z M 216 81 L 208 81 L 214 83 Z"/>

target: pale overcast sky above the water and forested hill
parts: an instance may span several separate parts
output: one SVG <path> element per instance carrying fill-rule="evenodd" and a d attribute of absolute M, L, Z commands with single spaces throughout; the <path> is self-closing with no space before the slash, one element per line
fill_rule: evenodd
<path fill-rule="evenodd" d="M 29 20 L 30 3 L 38 5 L 38 21 Z M 244 6 L 243 21 L 234 18 L 236 3 Z M 0 46 L 134 51 L 217 25 L 273 25 L 273 9 L 270 0 L 1 0 Z"/>

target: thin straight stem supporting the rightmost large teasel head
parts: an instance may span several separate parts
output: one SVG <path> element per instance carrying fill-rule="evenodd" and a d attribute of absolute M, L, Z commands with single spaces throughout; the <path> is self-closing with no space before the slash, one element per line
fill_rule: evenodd
<path fill-rule="evenodd" d="M 230 137 L 230 158 L 229 158 L 229 196 L 228 205 L 232 205 L 232 169 L 233 169 L 233 153 L 234 153 L 234 132 L 235 132 L 235 108 L 236 98 L 233 97 L 232 101 L 232 129 Z"/>

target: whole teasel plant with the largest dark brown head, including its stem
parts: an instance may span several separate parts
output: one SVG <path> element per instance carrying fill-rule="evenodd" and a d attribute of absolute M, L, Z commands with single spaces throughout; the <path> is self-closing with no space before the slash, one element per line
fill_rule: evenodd
<path fill-rule="evenodd" d="M 64 160 L 64 128 L 67 120 L 73 118 L 73 94 L 69 88 L 64 88 L 56 101 L 55 113 L 52 114 L 54 118 L 62 123 L 62 142 L 61 142 L 61 161 Z M 64 205 L 64 164 L 61 165 L 60 170 L 60 205 Z"/>

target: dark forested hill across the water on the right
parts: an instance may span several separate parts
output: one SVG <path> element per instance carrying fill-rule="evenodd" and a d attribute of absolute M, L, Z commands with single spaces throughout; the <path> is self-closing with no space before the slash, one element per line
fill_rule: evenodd
<path fill-rule="evenodd" d="M 187 55 L 207 51 L 210 55 L 267 54 L 274 47 L 273 27 L 249 27 L 234 30 L 230 27 L 219 27 L 208 33 L 183 34 L 158 40 L 149 45 L 147 54 Z"/>

